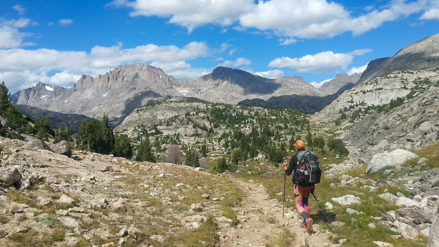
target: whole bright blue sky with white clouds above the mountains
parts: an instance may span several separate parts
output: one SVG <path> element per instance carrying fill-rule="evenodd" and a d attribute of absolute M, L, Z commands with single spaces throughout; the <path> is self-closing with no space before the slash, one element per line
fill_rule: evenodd
<path fill-rule="evenodd" d="M 6 0 L 0 81 L 69 87 L 141 62 L 183 80 L 225 66 L 319 86 L 438 27 L 439 0 Z"/>

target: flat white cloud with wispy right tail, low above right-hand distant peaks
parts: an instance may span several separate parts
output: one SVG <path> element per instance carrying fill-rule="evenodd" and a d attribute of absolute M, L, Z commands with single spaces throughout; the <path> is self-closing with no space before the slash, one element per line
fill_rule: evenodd
<path fill-rule="evenodd" d="M 270 61 L 268 66 L 275 68 L 293 68 L 298 72 L 307 73 L 333 72 L 336 69 L 347 71 L 349 64 L 352 63 L 355 56 L 363 55 L 371 51 L 370 49 L 354 50 L 349 53 L 324 51 L 299 58 L 281 57 Z"/>

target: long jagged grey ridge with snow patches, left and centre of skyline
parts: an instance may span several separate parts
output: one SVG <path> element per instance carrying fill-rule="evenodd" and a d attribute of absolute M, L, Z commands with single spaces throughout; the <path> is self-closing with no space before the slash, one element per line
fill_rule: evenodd
<path fill-rule="evenodd" d="M 142 105 L 174 97 L 236 104 L 244 99 L 268 99 L 291 93 L 323 96 L 301 77 L 266 79 L 238 69 L 218 67 L 197 80 L 180 81 L 160 68 L 129 64 L 97 78 L 83 75 L 69 89 L 39 82 L 31 89 L 22 90 L 16 104 L 88 117 L 108 114 L 119 122 Z"/>

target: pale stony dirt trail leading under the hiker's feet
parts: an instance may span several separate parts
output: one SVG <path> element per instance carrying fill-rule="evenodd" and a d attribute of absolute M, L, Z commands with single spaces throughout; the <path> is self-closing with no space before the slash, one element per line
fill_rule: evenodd
<path fill-rule="evenodd" d="M 295 211 L 295 208 L 285 208 L 282 218 L 282 201 L 270 200 L 266 189 L 260 185 L 245 183 L 237 180 L 239 185 L 246 192 L 240 207 L 237 208 L 237 218 L 240 221 L 237 227 L 230 228 L 223 226 L 220 232 L 224 235 L 221 240 L 222 247 L 231 246 L 253 246 L 262 247 L 270 240 L 275 240 L 282 232 L 283 226 L 295 233 L 295 240 L 291 246 L 339 246 L 328 239 L 329 233 L 320 232 L 319 226 L 314 225 L 314 233 L 308 234 L 301 229 L 302 217 Z M 287 192 L 288 193 L 288 192 Z M 316 209 L 314 209 L 316 210 Z M 306 242 L 306 243 L 304 243 Z"/>

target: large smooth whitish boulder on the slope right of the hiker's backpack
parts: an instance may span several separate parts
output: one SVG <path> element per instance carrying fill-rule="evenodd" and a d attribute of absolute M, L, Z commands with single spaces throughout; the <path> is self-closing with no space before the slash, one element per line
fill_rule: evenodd
<path fill-rule="evenodd" d="M 390 153 L 375 154 L 367 166 L 366 173 L 384 172 L 385 170 L 392 169 L 396 165 L 402 165 L 405 161 L 417 157 L 416 154 L 403 149 L 396 149 Z"/>

